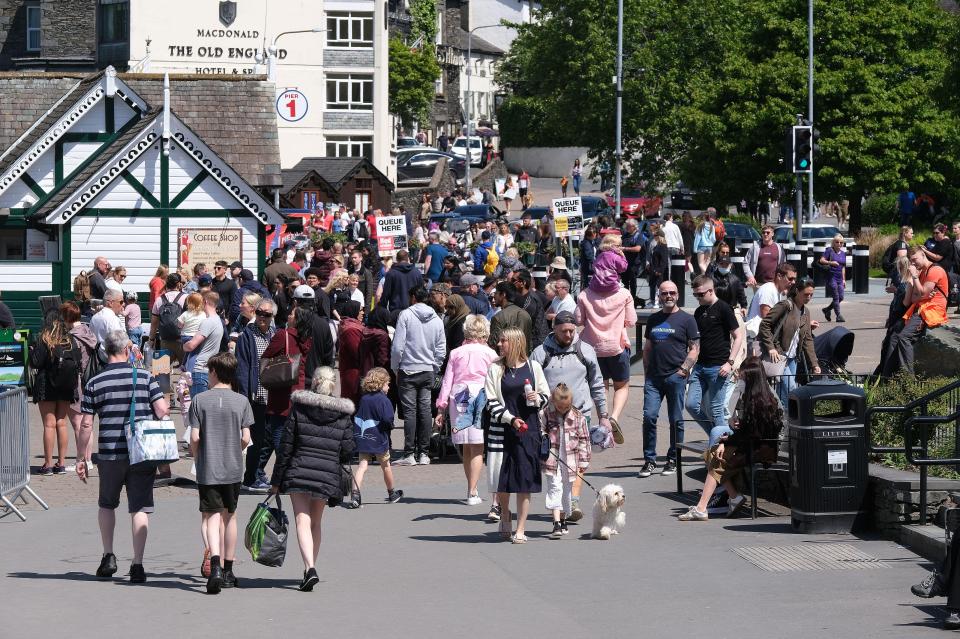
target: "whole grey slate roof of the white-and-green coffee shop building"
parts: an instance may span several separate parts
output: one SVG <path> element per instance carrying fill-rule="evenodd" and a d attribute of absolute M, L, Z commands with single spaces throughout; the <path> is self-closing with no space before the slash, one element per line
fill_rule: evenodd
<path fill-rule="evenodd" d="M 102 72 L 93 75 L 0 73 L 0 153 L 34 122 L 44 118 L 17 149 L 0 160 L 0 173 L 101 76 Z M 117 78 L 150 107 L 163 106 L 162 75 L 121 73 Z M 81 86 L 71 91 L 78 82 Z M 67 99 L 44 117 L 68 92 Z M 262 76 L 170 76 L 173 112 L 254 187 L 282 184 L 275 99 L 274 85 L 264 82 Z"/>

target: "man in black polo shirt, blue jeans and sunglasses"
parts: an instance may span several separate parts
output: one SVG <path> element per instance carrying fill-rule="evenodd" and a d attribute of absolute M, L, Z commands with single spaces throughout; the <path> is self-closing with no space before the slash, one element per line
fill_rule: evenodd
<path fill-rule="evenodd" d="M 746 340 L 746 329 L 737 322 L 729 304 L 717 298 L 713 278 L 693 279 L 693 296 L 700 306 L 694 311 L 700 331 L 700 353 L 690 373 L 687 411 L 710 436 L 710 446 L 732 432 L 727 402 L 733 393 L 734 364 Z"/>

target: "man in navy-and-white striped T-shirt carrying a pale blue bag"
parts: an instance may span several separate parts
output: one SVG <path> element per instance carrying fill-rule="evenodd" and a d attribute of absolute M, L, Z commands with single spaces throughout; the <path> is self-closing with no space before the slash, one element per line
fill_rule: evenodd
<path fill-rule="evenodd" d="M 109 579 L 117 572 L 117 558 L 113 554 L 113 531 L 116 527 L 116 509 L 120 505 L 120 491 L 127 489 L 127 507 L 133 520 L 133 563 L 130 581 L 147 580 L 143 570 L 143 549 L 147 543 L 148 513 L 153 512 L 153 479 L 156 468 L 147 465 L 130 466 L 127 453 L 125 426 L 130 421 L 130 405 L 134 405 L 134 419 L 160 419 L 170 413 L 167 401 L 160 392 L 157 380 L 149 371 L 133 368 L 130 343 L 126 331 L 110 331 L 103 340 L 108 363 L 90 379 L 83 389 L 78 450 L 86 450 L 93 433 L 93 416 L 100 419 L 97 471 L 100 475 L 100 537 L 103 541 L 103 559 L 97 568 L 97 577 Z M 136 382 L 134 382 L 136 379 Z M 86 483 L 87 465 L 77 463 L 77 475 Z"/>

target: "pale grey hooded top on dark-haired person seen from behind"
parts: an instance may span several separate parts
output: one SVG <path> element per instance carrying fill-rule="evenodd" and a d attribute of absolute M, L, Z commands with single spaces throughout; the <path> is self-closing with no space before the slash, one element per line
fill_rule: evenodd
<path fill-rule="evenodd" d="M 400 313 L 390 348 L 390 368 L 407 373 L 436 374 L 446 355 L 443 320 L 433 308 L 417 303 Z"/>

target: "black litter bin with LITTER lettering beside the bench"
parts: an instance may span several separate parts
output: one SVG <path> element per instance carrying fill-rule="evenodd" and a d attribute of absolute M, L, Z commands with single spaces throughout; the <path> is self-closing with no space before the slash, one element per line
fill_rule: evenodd
<path fill-rule="evenodd" d="M 790 523 L 796 532 L 850 532 L 865 523 L 863 389 L 833 379 L 790 393 Z"/>

